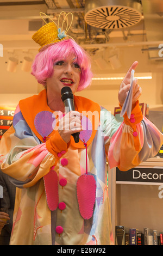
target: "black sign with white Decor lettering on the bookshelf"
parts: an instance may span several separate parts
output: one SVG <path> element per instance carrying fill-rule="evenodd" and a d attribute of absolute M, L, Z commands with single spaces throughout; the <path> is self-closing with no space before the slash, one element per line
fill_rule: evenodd
<path fill-rule="evenodd" d="M 127 172 L 122 172 L 116 168 L 117 184 L 143 184 L 160 185 L 163 184 L 162 168 L 132 168 Z"/>

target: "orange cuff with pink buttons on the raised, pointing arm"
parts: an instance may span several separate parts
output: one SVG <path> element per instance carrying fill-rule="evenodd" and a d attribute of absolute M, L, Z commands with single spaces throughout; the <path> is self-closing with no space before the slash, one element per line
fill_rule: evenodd
<path fill-rule="evenodd" d="M 120 108 L 122 109 L 121 105 Z M 139 124 L 143 119 L 143 115 L 141 112 L 141 108 L 139 106 L 139 100 L 136 101 L 136 106 L 131 111 L 130 119 L 127 116 L 127 113 L 123 115 L 124 123 L 131 126 L 133 128 L 133 138 L 134 138 L 134 146 L 135 150 L 138 151 L 140 148 L 139 136 L 136 131 L 136 124 Z"/>

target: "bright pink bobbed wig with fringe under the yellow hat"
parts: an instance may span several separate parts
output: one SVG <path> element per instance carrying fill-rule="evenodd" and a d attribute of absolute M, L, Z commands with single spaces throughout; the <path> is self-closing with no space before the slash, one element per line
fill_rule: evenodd
<path fill-rule="evenodd" d="M 86 51 L 80 47 L 74 40 L 65 39 L 53 44 L 39 52 L 32 65 L 32 75 L 35 76 L 38 83 L 46 86 L 46 78 L 53 75 L 53 65 L 59 60 L 64 60 L 76 56 L 74 60 L 80 66 L 80 82 L 78 91 L 83 90 L 91 83 L 92 72 L 90 58 Z"/>

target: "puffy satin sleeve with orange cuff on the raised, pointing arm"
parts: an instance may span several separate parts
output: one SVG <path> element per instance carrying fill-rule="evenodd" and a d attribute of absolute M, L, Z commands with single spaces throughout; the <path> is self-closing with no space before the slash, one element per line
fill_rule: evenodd
<path fill-rule="evenodd" d="M 104 127 L 105 149 L 110 168 L 118 167 L 125 171 L 158 153 L 163 144 L 163 135 L 151 121 L 143 117 L 139 101 L 136 102 L 130 119 L 124 114 L 122 123 L 110 114 L 109 124 L 105 120 L 105 110 L 102 112 L 101 124 Z"/>

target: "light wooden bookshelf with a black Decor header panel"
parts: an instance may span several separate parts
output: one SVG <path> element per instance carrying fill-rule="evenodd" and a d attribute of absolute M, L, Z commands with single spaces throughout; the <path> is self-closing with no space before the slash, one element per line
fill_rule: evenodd
<path fill-rule="evenodd" d="M 134 169 L 137 170 L 135 175 L 143 179 L 117 181 L 116 168 L 108 170 L 114 237 L 116 225 L 136 228 L 142 232 L 145 227 L 163 231 L 163 158 L 153 157 Z"/>

